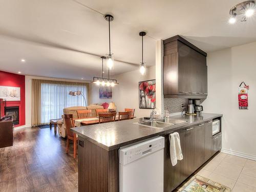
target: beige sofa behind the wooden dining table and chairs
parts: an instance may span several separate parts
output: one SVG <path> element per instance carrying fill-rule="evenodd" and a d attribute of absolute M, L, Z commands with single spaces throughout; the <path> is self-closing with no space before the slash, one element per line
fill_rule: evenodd
<path fill-rule="evenodd" d="M 96 117 L 96 109 L 103 109 L 103 106 L 100 105 L 89 105 L 89 106 L 71 106 L 69 108 L 64 108 L 63 109 L 63 114 L 72 114 L 74 119 L 77 119 L 77 113 L 76 111 L 78 110 L 91 110 L 91 115 L 92 117 Z M 66 126 L 65 126 L 65 121 L 63 119 L 63 115 L 62 115 L 62 119 L 57 121 L 57 126 L 58 126 L 58 134 L 65 138 L 67 135 L 66 132 Z"/>

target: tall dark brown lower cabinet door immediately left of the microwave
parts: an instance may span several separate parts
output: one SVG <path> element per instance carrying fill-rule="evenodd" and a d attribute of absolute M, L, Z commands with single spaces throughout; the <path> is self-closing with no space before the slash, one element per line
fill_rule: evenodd
<path fill-rule="evenodd" d="M 205 122 L 204 127 L 204 159 L 207 161 L 211 157 L 212 143 L 212 120 Z"/>

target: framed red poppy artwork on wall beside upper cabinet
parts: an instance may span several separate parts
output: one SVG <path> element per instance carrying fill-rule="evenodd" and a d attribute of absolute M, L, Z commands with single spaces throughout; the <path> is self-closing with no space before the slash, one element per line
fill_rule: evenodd
<path fill-rule="evenodd" d="M 139 108 L 156 108 L 156 79 L 139 82 Z"/>

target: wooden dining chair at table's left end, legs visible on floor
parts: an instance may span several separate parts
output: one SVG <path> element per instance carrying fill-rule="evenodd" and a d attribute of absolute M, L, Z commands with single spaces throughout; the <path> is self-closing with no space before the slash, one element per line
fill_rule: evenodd
<path fill-rule="evenodd" d="M 67 131 L 67 146 L 66 146 L 66 153 L 69 152 L 69 140 L 72 140 L 74 142 L 74 158 L 76 158 L 76 141 L 78 138 L 76 137 L 76 134 L 70 130 L 70 128 L 74 127 L 74 121 L 73 121 L 73 115 L 72 114 L 64 114 L 64 120 L 66 125 L 66 131 Z"/>

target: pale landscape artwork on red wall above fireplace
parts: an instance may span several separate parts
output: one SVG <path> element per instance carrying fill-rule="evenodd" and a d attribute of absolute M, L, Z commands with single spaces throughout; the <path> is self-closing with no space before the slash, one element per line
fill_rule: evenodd
<path fill-rule="evenodd" d="M 20 101 L 20 88 L 0 86 L 0 98 L 7 101 Z"/>

